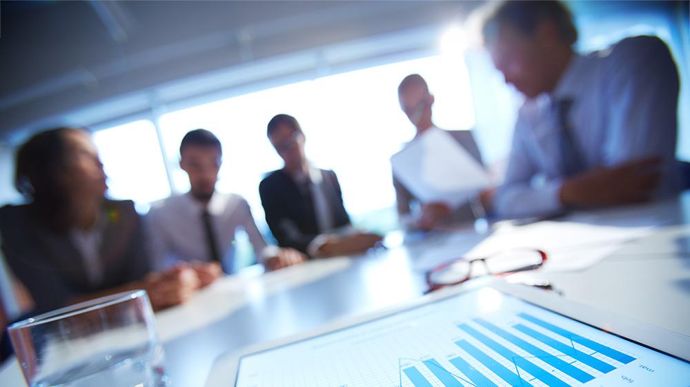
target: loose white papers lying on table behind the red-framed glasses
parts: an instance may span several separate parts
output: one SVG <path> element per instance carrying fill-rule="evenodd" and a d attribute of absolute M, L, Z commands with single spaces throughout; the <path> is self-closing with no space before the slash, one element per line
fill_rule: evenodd
<path fill-rule="evenodd" d="M 486 257 L 499 251 L 527 248 L 545 251 L 549 260 L 543 271 L 584 270 L 622 248 L 627 242 L 648 236 L 651 227 L 615 227 L 580 222 L 543 221 L 525 226 L 506 226 L 473 243 L 469 236 L 449 238 L 427 249 L 415 260 L 417 271 L 427 271 L 458 258 Z"/>

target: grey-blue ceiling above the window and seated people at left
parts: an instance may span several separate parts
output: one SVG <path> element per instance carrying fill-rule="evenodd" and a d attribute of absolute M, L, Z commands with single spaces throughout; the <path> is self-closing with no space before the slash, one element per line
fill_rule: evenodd
<path fill-rule="evenodd" d="M 478 5 L 477 1 L 2 1 L 0 138 L 55 125 L 67 112 L 199 74 L 455 21 Z M 385 50 L 385 41 L 381 45 Z"/>

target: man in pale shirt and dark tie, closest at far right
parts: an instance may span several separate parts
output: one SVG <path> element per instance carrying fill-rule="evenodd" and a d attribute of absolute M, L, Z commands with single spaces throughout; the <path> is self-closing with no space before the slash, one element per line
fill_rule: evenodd
<path fill-rule="evenodd" d="M 526 97 L 504 185 L 502 218 L 643 202 L 682 189 L 675 160 L 678 72 L 658 38 L 581 56 L 558 1 L 508 1 L 484 23 L 493 62 Z"/>

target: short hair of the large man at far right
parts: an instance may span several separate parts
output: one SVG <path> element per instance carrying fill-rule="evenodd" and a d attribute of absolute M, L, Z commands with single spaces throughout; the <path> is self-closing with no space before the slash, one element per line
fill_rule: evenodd
<path fill-rule="evenodd" d="M 573 14 L 564 3 L 554 0 L 524 0 L 504 1 L 490 12 L 482 27 L 484 42 L 490 43 L 495 39 L 500 25 L 510 25 L 531 36 L 542 21 L 555 23 L 564 43 L 573 45 L 578 41 L 578 29 L 573 23 Z"/>

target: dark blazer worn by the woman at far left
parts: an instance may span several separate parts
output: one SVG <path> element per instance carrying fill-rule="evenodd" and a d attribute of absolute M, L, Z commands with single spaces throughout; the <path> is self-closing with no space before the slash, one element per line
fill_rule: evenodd
<path fill-rule="evenodd" d="M 0 209 L 2 249 L 14 275 L 33 297 L 36 312 L 66 306 L 81 295 L 140 280 L 150 271 L 141 218 L 130 200 L 106 200 L 101 237 L 103 278 L 91 284 L 69 233 L 56 233 L 31 215 L 31 205 Z"/>

